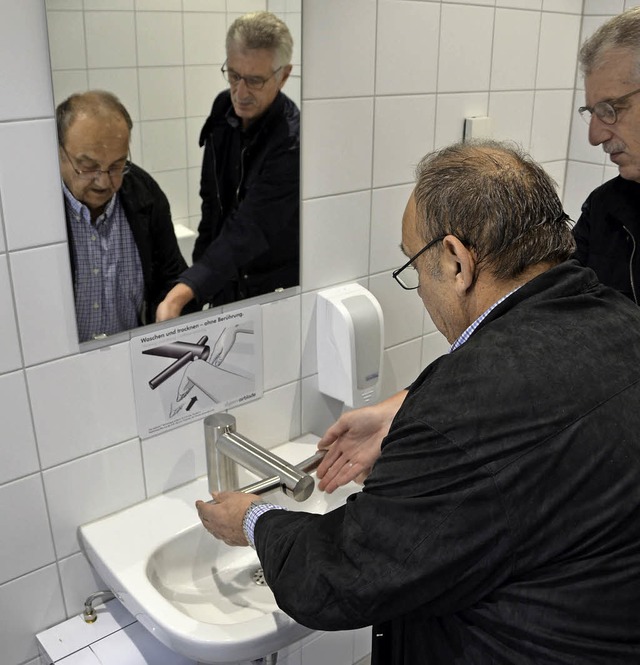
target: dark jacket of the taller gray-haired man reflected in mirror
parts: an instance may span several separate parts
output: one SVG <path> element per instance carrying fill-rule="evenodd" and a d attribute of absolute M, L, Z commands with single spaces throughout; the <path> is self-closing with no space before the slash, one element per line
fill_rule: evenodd
<path fill-rule="evenodd" d="M 221 305 L 299 284 L 300 112 L 278 93 L 266 113 L 239 135 L 229 91 L 220 93 L 201 135 L 202 219 L 194 265 L 180 281 L 202 304 Z M 239 164 L 233 134 L 245 141 Z M 237 191 L 227 191 L 229 169 Z"/>

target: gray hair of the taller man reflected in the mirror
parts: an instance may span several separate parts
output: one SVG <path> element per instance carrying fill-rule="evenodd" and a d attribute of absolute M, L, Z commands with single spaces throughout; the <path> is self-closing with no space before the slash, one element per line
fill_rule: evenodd
<path fill-rule="evenodd" d="M 272 51 L 276 69 L 291 63 L 293 38 L 287 24 L 271 12 L 252 12 L 238 17 L 227 31 L 227 52 L 236 44 Z"/>

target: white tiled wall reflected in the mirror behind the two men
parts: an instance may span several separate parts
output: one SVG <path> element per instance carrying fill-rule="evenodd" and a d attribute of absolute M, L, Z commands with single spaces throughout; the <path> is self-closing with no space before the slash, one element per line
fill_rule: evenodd
<path fill-rule="evenodd" d="M 228 87 L 220 68 L 233 20 L 268 10 L 294 40 L 283 92 L 301 106 L 301 0 L 45 0 L 54 103 L 74 92 L 116 94 L 133 120 L 131 160 L 167 195 L 185 260 L 200 222 L 200 130 Z M 62 195 L 62 194 L 61 194 Z M 261 301 L 264 301 L 261 296 Z M 140 330 L 138 328 L 137 330 Z"/>

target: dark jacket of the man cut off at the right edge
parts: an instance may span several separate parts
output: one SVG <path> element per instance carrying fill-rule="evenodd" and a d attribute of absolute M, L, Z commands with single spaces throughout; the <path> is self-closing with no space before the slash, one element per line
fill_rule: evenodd
<path fill-rule="evenodd" d="M 573 229 L 575 258 L 640 304 L 640 184 L 618 176 L 594 190 Z"/>

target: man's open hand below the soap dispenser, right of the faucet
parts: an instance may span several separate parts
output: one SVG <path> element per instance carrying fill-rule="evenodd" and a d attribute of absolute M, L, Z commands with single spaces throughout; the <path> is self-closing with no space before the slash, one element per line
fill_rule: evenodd
<path fill-rule="evenodd" d="M 348 411 L 325 432 L 318 442 L 320 450 L 327 450 L 317 470 L 321 490 L 330 494 L 352 480 L 364 482 L 406 395 L 402 390 L 375 406 Z"/>

